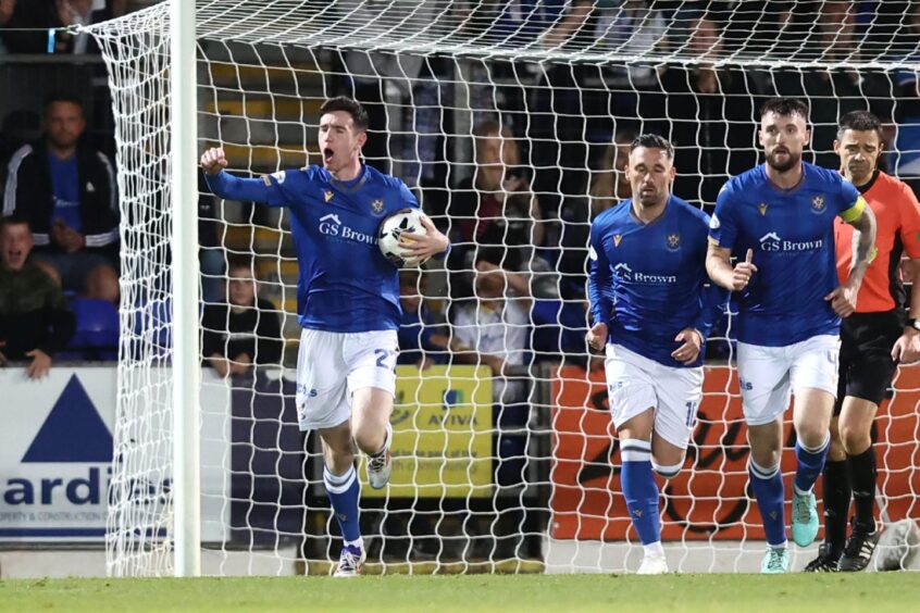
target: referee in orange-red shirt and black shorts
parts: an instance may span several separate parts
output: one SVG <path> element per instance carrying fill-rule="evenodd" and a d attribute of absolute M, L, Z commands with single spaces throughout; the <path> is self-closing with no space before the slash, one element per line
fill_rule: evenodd
<path fill-rule="evenodd" d="M 904 318 L 905 291 L 898 277 L 907 252 L 913 278 L 920 280 L 920 204 L 906 184 L 877 168 L 882 152 L 882 126 L 867 111 L 845 114 L 834 150 L 841 172 L 875 213 L 874 259 L 857 296 L 856 312 L 841 326 L 837 401 L 831 422 L 831 450 L 824 465 L 824 542 L 806 572 L 862 571 L 879 542 L 875 525 L 875 452 L 872 421 L 898 362 L 920 356 L 920 283 L 910 292 L 909 318 Z M 847 277 L 853 229 L 837 220 L 834 227 L 837 274 Z M 847 538 L 849 503 L 853 530 Z"/>

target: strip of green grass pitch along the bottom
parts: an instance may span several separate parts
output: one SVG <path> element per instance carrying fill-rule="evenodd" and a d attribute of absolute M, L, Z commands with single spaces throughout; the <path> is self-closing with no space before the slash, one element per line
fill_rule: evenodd
<path fill-rule="evenodd" d="M 7 579 L 3 611 L 897 611 L 920 606 L 920 575 L 463 575 Z"/>

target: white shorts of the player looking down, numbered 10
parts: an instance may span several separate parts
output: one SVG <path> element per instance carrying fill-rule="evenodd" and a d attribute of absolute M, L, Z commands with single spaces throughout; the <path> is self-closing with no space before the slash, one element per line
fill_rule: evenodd
<path fill-rule="evenodd" d="M 607 346 L 604 365 L 617 429 L 651 408 L 656 436 L 686 449 L 703 399 L 703 366 L 666 366 L 612 343 Z"/>

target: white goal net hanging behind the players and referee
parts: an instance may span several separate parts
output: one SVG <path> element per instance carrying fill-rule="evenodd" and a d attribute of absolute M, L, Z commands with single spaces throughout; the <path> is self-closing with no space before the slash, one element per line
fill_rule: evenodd
<path fill-rule="evenodd" d="M 635 568 L 602 371 L 583 340 L 587 232 L 629 196 L 625 148 L 670 138 L 674 192 L 711 211 L 758 163 L 759 103 L 798 96 L 808 160 L 836 167 L 838 116 L 869 109 L 886 125 L 885 167 L 912 183 L 918 4 L 198 0 L 199 150 L 223 147 L 238 176 L 319 163 L 320 104 L 353 97 L 371 117 L 366 163 L 402 178 L 452 240 L 400 277 L 396 465 L 361 499 L 370 572 Z M 191 168 L 169 157 L 169 27 L 163 2 L 89 30 L 109 68 L 122 212 L 115 575 L 172 564 L 169 179 Z M 287 215 L 203 186 L 174 205 L 199 208 L 206 572 L 327 573 L 339 541 L 319 441 L 296 427 Z M 257 308 L 228 306 L 249 304 L 253 284 Z M 680 571 L 755 571 L 762 547 L 733 349 L 726 315 L 684 470 L 662 489 Z M 920 513 L 918 392 L 920 372 L 900 368 L 878 420 L 885 521 Z"/>

